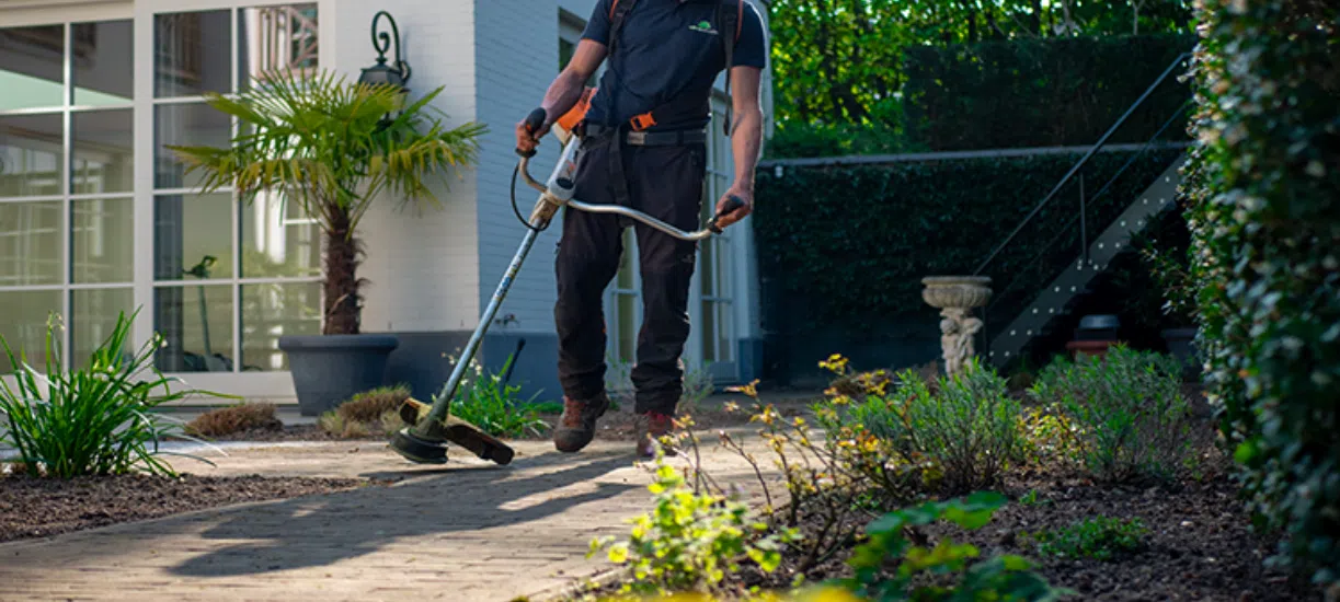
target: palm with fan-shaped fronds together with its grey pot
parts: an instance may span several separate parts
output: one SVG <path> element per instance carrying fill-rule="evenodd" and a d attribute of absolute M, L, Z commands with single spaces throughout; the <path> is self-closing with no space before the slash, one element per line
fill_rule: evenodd
<path fill-rule="evenodd" d="M 403 88 L 393 84 L 269 71 L 236 98 L 206 95 L 212 107 L 239 120 L 228 147 L 169 146 L 188 173 L 204 174 L 204 193 L 232 186 L 248 202 L 257 193 L 277 193 L 318 222 L 324 253 L 322 334 L 279 341 L 304 416 L 383 384 L 398 340 L 359 332 L 356 231 L 386 193 L 440 206 L 429 174 L 474 163 L 485 128 L 473 122 L 448 128 L 430 118 L 429 103 L 441 92 L 438 87 L 402 107 Z"/>

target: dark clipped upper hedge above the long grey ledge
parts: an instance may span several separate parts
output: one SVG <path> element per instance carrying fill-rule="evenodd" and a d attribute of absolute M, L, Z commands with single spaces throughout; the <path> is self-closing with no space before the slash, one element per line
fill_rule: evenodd
<path fill-rule="evenodd" d="M 1092 144 L 1194 35 L 1055 37 L 907 48 L 909 146 L 935 151 Z M 1111 142 L 1144 142 L 1191 98 L 1174 72 Z M 1174 136 L 1186 119 L 1174 122 Z"/>

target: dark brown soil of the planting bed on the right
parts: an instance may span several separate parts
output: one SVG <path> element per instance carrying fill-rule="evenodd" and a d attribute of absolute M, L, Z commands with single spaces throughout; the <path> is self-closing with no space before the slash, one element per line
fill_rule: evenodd
<path fill-rule="evenodd" d="M 1253 532 L 1229 476 L 1231 459 L 1213 441 L 1213 427 L 1201 423 L 1195 437 L 1201 449 L 1197 471 L 1164 483 L 1099 484 L 1061 468 L 1028 470 L 1006 476 L 994 491 L 1009 502 L 980 530 L 965 531 L 950 523 L 919 527 L 909 536 L 915 544 L 934 547 L 949 536 L 972 543 L 981 559 L 1017 554 L 1036 563 L 1036 571 L 1053 586 L 1076 595 L 1067 599 L 1127 601 L 1233 601 L 1312 602 L 1323 594 L 1301 579 L 1268 570 L 1264 561 L 1277 550 L 1277 539 Z M 1026 502 L 1025 502 L 1026 500 Z M 871 514 L 878 516 L 879 512 Z M 1138 518 L 1147 528 L 1140 546 L 1111 559 L 1063 559 L 1044 555 L 1028 534 L 1057 530 L 1096 516 Z M 868 518 L 852 524 L 863 527 Z M 819 532 L 825 520 L 801 508 L 800 528 Z M 800 554 L 788 553 L 781 567 L 761 573 L 750 562 L 728 575 L 728 587 L 787 590 L 799 573 L 807 583 L 852 577 L 846 546 L 831 558 L 800 571 Z M 618 585 L 607 586 L 611 591 Z"/>

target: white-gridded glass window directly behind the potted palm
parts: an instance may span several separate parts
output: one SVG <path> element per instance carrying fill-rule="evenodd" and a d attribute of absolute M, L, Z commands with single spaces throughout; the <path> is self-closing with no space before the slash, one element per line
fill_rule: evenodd
<path fill-rule="evenodd" d="M 279 338 L 320 332 L 320 235 L 276 194 L 201 194 L 165 144 L 226 146 L 237 128 L 204 92 L 236 94 L 319 64 L 316 5 L 154 16 L 153 318 L 170 372 L 283 371 Z M 236 52 L 233 52 L 236 48 Z"/>

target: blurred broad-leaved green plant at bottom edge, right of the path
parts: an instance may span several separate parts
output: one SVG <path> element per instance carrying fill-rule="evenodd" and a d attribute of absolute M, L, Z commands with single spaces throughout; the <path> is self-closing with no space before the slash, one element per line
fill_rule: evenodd
<path fill-rule="evenodd" d="M 1032 562 L 1017 555 L 996 555 L 976 561 L 981 551 L 969 543 L 954 543 L 945 538 L 934 547 L 913 544 L 904 530 L 949 520 L 961 528 L 977 530 L 990 522 L 1005 496 L 980 491 L 966 498 L 947 502 L 927 502 L 921 506 L 888 512 L 872 522 L 868 539 L 856 547 L 848 565 L 856 575 L 838 579 L 867 599 L 939 601 L 939 599 L 1008 599 L 1056 601 L 1072 594 L 1052 587 L 1047 579 L 1032 571 Z M 976 561 L 976 562 L 974 562 Z M 892 569 L 890 569 L 892 566 Z M 926 582 L 926 578 L 934 578 Z M 953 582 L 949 582 L 953 578 Z"/>

